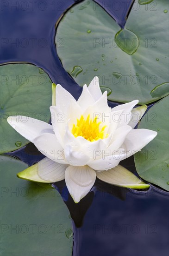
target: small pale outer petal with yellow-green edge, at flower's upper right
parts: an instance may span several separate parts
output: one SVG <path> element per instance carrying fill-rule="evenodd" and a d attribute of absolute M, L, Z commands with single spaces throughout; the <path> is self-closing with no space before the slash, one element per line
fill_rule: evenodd
<path fill-rule="evenodd" d="M 131 128 L 134 129 L 134 127 L 138 124 L 138 121 L 140 121 L 146 110 L 146 105 L 139 106 L 138 108 L 133 108 L 131 110 L 131 120 L 129 121 L 128 125 L 130 125 Z"/>

